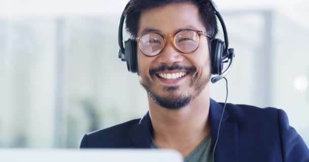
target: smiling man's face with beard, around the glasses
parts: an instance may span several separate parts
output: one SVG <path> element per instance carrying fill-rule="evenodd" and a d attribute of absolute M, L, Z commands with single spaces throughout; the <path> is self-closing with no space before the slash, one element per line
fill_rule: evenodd
<path fill-rule="evenodd" d="M 165 36 L 173 35 L 179 29 L 206 31 L 198 8 L 191 3 L 174 3 L 146 10 L 139 20 L 138 36 L 146 29 L 156 29 Z M 206 36 L 201 36 L 198 49 L 192 53 L 178 51 L 171 38 L 166 39 L 165 48 L 156 56 L 144 55 L 139 46 L 137 49 L 140 84 L 148 97 L 162 107 L 178 109 L 188 105 L 209 82 Z"/>

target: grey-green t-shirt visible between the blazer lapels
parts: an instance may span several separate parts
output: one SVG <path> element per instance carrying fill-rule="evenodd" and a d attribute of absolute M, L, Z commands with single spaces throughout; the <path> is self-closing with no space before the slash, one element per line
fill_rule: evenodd
<path fill-rule="evenodd" d="M 150 148 L 160 148 L 156 142 L 151 138 Z M 211 135 L 208 135 L 201 141 L 201 143 L 186 157 L 184 162 L 211 162 L 212 150 L 211 150 Z"/>

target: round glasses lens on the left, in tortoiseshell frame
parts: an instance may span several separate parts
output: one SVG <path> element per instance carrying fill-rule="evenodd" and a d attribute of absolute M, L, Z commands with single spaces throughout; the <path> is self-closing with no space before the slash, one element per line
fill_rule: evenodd
<path fill-rule="evenodd" d="M 147 56 L 158 55 L 164 46 L 164 39 L 157 33 L 143 35 L 139 40 L 139 48 Z"/>

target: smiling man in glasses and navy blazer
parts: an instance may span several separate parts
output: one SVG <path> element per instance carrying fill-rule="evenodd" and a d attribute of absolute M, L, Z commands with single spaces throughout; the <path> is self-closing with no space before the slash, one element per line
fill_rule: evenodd
<path fill-rule="evenodd" d="M 84 135 L 81 148 L 172 148 L 184 161 L 211 161 L 213 152 L 215 161 L 309 161 L 283 110 L 227 104 L 223 113 L 224 104 L 210 99 L 217 21 L 209 1 L 129 3 L 126 25 L 149 112 Z"/>

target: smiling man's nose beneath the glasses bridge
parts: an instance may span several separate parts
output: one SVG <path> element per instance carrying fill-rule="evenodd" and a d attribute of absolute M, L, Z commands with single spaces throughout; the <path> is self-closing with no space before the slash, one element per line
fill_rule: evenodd
<path fill-rule="evenodd" d="M 182 53 L 173 46 L 171 39 L 167 39 L 166 45 L 158 57 L 158 62 L 171 65 L 173 63 L 182 62 L 183 60 L 184 57 Z"/>

